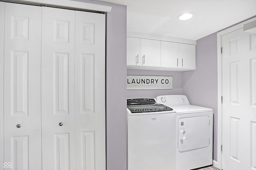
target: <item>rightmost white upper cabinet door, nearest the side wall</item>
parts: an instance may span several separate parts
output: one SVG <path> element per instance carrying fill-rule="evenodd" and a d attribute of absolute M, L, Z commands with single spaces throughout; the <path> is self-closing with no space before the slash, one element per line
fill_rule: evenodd
<path fill-rule="evenodd" d="M 179 44 L 179 68 L 196 69 L 196 46 Z"/>

